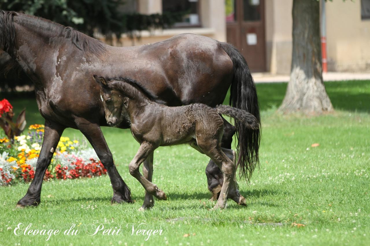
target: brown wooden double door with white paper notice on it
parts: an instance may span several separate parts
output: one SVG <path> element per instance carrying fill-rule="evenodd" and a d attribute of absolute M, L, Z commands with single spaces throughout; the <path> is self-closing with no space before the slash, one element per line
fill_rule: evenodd
<path fill-rule="evenodd" d="M 266 71 L 264 0 L 226 0 L 227 41 L 244 55 L 253 72 Z"/>

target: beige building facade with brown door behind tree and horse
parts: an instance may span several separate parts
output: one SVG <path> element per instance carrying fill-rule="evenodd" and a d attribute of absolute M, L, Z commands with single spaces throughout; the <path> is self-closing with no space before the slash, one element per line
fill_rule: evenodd
<path fill-rule="evenodd" d="M 292 57 L 293 0 L 129 0 L 125 9 L 143 14 L 186 11 L 172 28 L 122 35 L 116 46 L 153 43 L 195 33 L 234 44 L 254 72 L 288 74 Z M 329 71 L 370 72 L 370 0 L 327 1 Z"/>

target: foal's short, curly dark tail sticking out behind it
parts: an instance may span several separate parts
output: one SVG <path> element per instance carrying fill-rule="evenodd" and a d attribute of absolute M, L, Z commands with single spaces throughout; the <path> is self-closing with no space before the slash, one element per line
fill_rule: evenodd
<path fill-rule="evenodd" d="M 228 105 L 218 105 L 216 106 L 216 111 L 220 115 L 227 115 L 233 117 L 236 121 L 243 123 L 248 129 L 252 130 L 259 129 L 259 122 L 256 119 L 256 117 L 251 113 L 246 112 L 245 110 L 237 109 L 236 107 Z"/>

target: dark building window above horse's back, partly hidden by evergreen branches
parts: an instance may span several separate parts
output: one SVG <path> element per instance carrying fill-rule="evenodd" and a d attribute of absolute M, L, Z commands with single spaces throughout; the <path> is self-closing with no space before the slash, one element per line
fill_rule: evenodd
<path fill-rule="evenodd" d="M 199 1 L 198 0 L 162 0 L 162 11 L 171 13 L 184 13 L 182 21 L 173 27 L 199 26 Z"/>

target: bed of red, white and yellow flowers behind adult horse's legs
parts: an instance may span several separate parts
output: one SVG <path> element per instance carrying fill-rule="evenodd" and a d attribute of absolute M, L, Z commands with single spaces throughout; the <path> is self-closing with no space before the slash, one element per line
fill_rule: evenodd
<path fill-rule="evenodd" d="M 34 124 L 27 135 L 0 139 L 0 185 L 30 182 L 36 170 L 44 125 Z M 94 150 L 77 140 L 61 137 L 44 180 L 96 177 L 107 174 Z"/>

